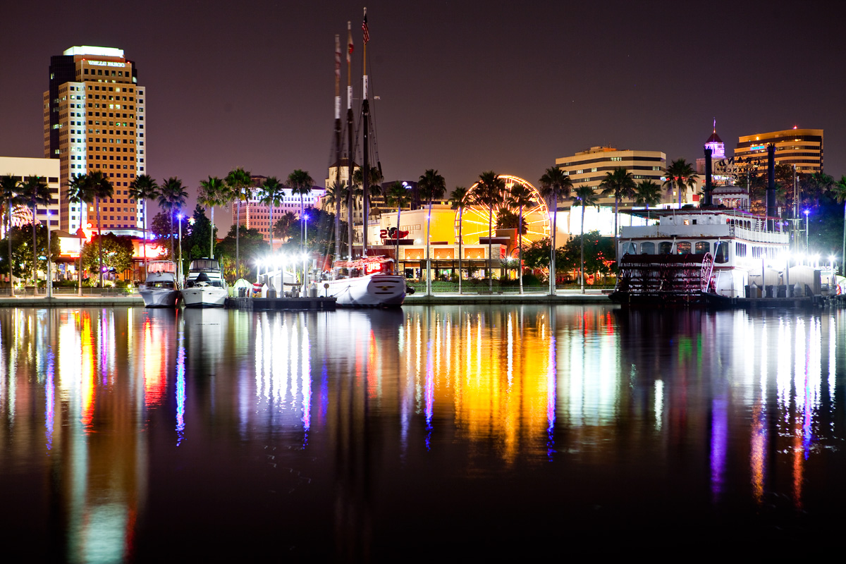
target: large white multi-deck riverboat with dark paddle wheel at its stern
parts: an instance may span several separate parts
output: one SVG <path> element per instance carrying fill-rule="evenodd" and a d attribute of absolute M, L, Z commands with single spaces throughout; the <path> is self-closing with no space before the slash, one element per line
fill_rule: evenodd
<path fill-rule="evenodd" d="M 787 298 L 796 284 L 802 296 L 805 286 L 818 286 L 813 269 L 788 269 L 788 222 L 782 219 L 713 207 L 649 215 L 654 225 L 622 229 L 614 301 L 694 304 L 709 294 Z"/>

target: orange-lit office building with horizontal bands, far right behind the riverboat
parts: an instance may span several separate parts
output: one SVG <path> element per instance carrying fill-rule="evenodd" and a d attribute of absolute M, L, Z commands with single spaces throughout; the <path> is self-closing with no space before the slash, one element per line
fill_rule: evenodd
<path fill-rule="evenodd" d="M 795 165 L 797 172 L 822 172 L 822 129 L 783 129 L 742 135 L 734 150 L 735 164 L 748 162 L 766 172 L 766 145 L 776 145 L 776 164 Z"/>

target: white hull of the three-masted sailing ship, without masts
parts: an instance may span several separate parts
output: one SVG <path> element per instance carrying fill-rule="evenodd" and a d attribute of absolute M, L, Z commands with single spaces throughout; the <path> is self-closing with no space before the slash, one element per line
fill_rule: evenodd
<path fill-rule="evenodd" d="M 393 259 L 385 256 L 338 260 L 331 278 L 317 282 L 318 290 L 342 307 L 399 307 L 405 301 L 405 278 L 393 273 Z"/>

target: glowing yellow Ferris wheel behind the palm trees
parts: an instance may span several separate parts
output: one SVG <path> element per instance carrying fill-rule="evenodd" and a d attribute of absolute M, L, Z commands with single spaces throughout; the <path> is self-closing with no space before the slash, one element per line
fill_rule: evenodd
<path fill-rule="evenodd" d="M 541 197 L 541 193 L 523 178 L 510 176 L 508 174 L 500 174 L 499 178 L 502 178 L 505 181 L 506 200 L 508 199 L 508 194 L 511 194 L 511 189 L 514 188 L 515 185 L 525 186 L 525 188 L 529 189 L 531 194 L 531 204 L 523 207 L 523 222 L 526 227 L 526 233 L 523 233 L 522 243 L 531 244 L 535 241 L 549 238 L 549 210 L 547 209 L 547 203 Z M 468 190 L 470 200 L 473 200 L 477 185 L 478 183 L 473 184 L 470 186 L 470 190 Z M 497 216 L 503 211 L 510 211 L 511 213 L 514 213 L 514 215 L 517 215 L 519 212 L 517 208 L 509 208 L 506 204 L 495 206 L 493 209 L 491 230 L 493 235 L 497 234 Z M 474 203 L 464 208 L 464 217 L 461 222 L 461 235 L 464 244 L 478 244 L 480 237 L 487 237 L 489 213 L 490 208 L 488 208 L 487 205 Z M 456 240 L 459 238 L 458 211 L 455 213 L 455 238 Z"/>

